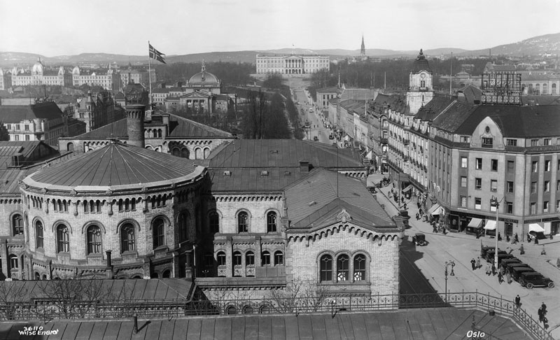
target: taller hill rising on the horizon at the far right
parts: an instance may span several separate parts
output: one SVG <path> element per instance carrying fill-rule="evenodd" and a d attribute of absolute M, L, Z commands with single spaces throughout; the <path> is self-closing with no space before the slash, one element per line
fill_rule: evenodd
<path fill-rule="evenodd" d="M 508 43 L 506 45 L 494 46 L 484 50 L 474 50 L 463 52 L 461 55 L 507 55 L 522 57 L 544 55 L 545 53 L 552 53 L 560 55 L 560 33 L 545 34 L 544 36 L 534 36 L 517 43 Z"/>

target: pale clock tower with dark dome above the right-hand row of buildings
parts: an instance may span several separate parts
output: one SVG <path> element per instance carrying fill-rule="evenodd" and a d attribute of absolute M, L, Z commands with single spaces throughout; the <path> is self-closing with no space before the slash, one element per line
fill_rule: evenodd
<path fill-rule="evenodd" d="M 422 50 L 412 64 L 409 75 L 409 87 L 407 92 L 407 105 L 410 114 L 415 115 L 419 109 L 428 104 L 433 98 L 432 70 Z"/>

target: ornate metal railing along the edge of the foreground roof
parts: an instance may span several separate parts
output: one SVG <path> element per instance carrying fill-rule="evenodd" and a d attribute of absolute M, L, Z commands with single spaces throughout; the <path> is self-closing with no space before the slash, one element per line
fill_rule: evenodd
<path fill-rule="evenodd" d="M 225 296 L 225 295 L 224 295 Z M 48 302 L 8 303 L 0 306 L 0 320 L 52 320 L 141 318 L 172 316 L 220 316 L 237 313 L 332 313 L 333 311 L 383 311 L 395 309 L 456 307 L 493 310 L 509 316 L 530 332 L 535 339 L 553 340 L 552 335 L 514 302 L 481 292 L 448 292 L 401 295 L 322 295 L 315 297 L 267 299 L 145 300 L 119 302 Z"/>

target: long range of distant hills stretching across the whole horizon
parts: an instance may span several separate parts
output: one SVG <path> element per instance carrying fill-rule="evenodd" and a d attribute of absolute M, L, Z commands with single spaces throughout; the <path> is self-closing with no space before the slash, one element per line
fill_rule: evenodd
<path fill-rule="evenodd" d="M 508 56 L 538 56 L 545 53 L 560 55 L 560 33 L 546 34 L 544 36 L 535 36 L 517 43 L 499 45 L 493 48 L 485 48 L 484 50 L 463 50 L 461 48 L 435 48 L 433 50 L 424 50 L 423 52 L 429 57 L 437 57 L 439 55 L 449 55 L 453 52 L 458 56 L 478 56 L 488 55 L 491 50 L 492 55 L 508 55 Z M 418 55 L 419 50 L 383 50 L 378 48 L 366 49 L 365 54 L 369 57 L 411 57 Z M 331 59 L 342 59 L 344 57 L 356 57 L 360 55 L 360 50 L 342 50 L 342 49 L 323 49 L 309 50 L 303 48 L 280 48 L 276 50 L 245 50 L 234 52 L 206 52 L 191 55 L 167 55 L 168 63 L 174 62 L 255 62 L 255 55 L 328 55 Z M 4 68 L 12 68 L 15 65 L 24 66 L 34 64 L 38 57 L 47 64 L 66 66 L 78 65 L 82 63 L 106 64 L 109 62 L 117 62 L 118 64 L 145 64 L 148 60 L 147 55 L 113 55 L 108 53 L 82 53 L 80 55 L 61 55 L 57 57 L 45 57 L 34 53 L 25 52 L 0 52 L 0 66 Z"/>

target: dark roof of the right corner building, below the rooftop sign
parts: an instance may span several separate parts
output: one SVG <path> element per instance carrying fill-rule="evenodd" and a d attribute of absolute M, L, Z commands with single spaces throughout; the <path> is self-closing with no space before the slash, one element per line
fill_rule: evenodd
<path fill-rule="evenodd" d="M 457 134 L 472 134 L 484 118 L 491 118 L 504 137 L 560 135 L 560 106 L 479 105 L 458 127 Z"/>

